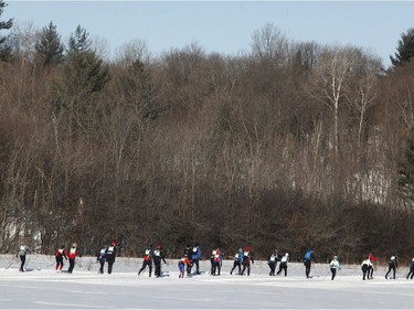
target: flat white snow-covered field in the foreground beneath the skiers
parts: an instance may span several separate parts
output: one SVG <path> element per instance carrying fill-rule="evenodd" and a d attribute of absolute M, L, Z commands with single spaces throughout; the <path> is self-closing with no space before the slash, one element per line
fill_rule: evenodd
<path fill-rule="evenodd" d="M 220 277 L 205 272 L 180 279 L 172 259 L 162 265 L 160 278 L 147 271 L 138 277 L 140 258 L 117 257 L 112 275 L 97 274 L 94 257 L 77 258 L 72 275 L 57 274 L 52 256 L 29 255 L 28 260 L 26 272 L 19 272 L 18 258 L 0 255 L 0 309 L 414 308 L 414 280 L 404 278 L 407 267 L 397 269 L 394 280 L 386 280 L 380 267 L 374 279 L 363 281 L 359 266 L 342 266 L 332 281 L 327 264 L 315 264 L 314 277 L 306 279 L 299 263 L 289 264 L 287 277 L 269 277 L 266 261 L 256 261 L 247 277 L 231 276 L 229 260 Z M 201 270 L 209 269 L 210 261 L 203 260 Z"/>

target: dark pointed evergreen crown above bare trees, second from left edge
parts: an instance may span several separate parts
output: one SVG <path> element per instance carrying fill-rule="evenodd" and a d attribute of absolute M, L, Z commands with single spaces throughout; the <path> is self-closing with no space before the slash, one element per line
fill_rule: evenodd
<path fill-rule="evenodd" d="M 43 65 L 62 63 L 64 60 L 64 46 L 61 43 L 61 36 L 56 31 L 56 25 L 52 22 L 44 26 L 34 46 L 36 58 Z"/>

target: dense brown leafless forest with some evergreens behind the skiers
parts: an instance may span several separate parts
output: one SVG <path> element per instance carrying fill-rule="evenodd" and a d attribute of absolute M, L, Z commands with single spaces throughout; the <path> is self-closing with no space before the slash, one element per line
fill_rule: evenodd
<path fill-rule="evenodd" d="M 265 23 L 251 50 L 198 43 L 110 61 L 81 25 L 63 42 L 1 21 L 0 248 L 121 255 L 199 242 L 257 258 L 414 255 L 414 30 L 384 68 L 352 45 Z M 397 42 L 399 38 L 396 38 Z M 393 51 L 390 51 L 393 53 Z"/>

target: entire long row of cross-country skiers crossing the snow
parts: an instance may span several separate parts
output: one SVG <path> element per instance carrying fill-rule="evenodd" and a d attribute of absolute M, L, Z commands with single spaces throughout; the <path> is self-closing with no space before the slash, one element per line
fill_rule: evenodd
<path fill-rule="evenodd" d="M 26 254 L 30 254 L 31 249 L 26 245 L 21 245 L 19 247 L 17 257 L 20 257 L 21 266 L 20 271 L 24 271 L 24 266 L 26 264 Z M 117 243 L 113 242 L 110 245 L 105 245 L 96 255 L 96 259 L 99 263 L 99 274 L 104 274 L 105 263 L 107 263 L 107 272 L 112 274 L 113 266 L 115 263 L 115 258 L 117 255 Z M 64 245 L 62 245 L 56 252 L 55 252 L 55 270 L 57 272 L 62 271 L 63 268 L 63 259 L 68 260 L 68 269 L 67 272 L 72 274 L 73 269 L 75 267 L 75 259 L 76 257 L 82 257 L 82 253 L 77 249 L 77 244 L 73 243 L 71 248 L 67 250 Z M 192 267 L 195 266 L 195 275 L 200 275 L 200 260 L 202 257 L 201 247 L 199 243 L 195 243 L 193 246 L 187 245 L 187 247 L 183 250 L 182 257 L 178 261 L 178 268 L 179 268 L 179 277 L 184 278 L 185 274 L 188 277 L 190 277 L 192 274 Z M 222 264 L 223 264 L 223 257 L 224 253 L 220 248 L 214 248 L 210 256 L 211 261 L 211 270 L 210 275 L 212 276 L 220 276 Z M 246 247 L 245 250 L 242 248 L 238 248 L 236 254 L 233 256 L 233 267 L 230 270 L 230 275 L 233 275 L 233 271 L 237 268 L 237 275 L 244 276 L 251 275 L 251 268 L 252 264 L 254 264 L 254 256 L 252 253 L 251 247 Z M 300 259 L 298 259 L 300 260 Z M 367 255 L 365 259 L 363 259 L 361 264 L 361 270 L 362 270 L 362 279 L 372 279 L 373 278 L 373 261 L 378 261 L 379 258 L 374 257 L 371 253 Z M 311 278 L 310 276 L 310 268 L 311 263 L 318 263 L 315 252 L 312 248 L 306 252 L 302 258 L 302 263 L 305 265 L 305 275 L 307 278 Z M 149 270 L 149 277 L 151 277 L 152 274 L 152 264 L 155 266 L 155 276 L 160 277 L 161 274 L 161 263 L 167 264 L 166 257 L 164 257 L 164 250 L 163 247 L 160 244 L 157 244 L 156 247 L 153 247 L 151 244 L 147 246 L 144 254 L 142 259 L 142 266 L 138 271 L 138 276 L 142 274 L 147 268 Z M 276 267 L 279 263 L 279 268 L 276 274 Z M 270 256 L 267 258 L 267 265 L 269 267 L 269 276 L 280 275 L 284 271 L 285 277 L 287 276 L 287 268 L 289 263 L 289 254 L 284 253 L 279 254 L 277 249 L 275 249 Z M 167 264 L 168 265 L 168 264 Z M 391 278 L 395 279 L 395 272 L 396 268 L 399 267 L 397 263 L 397 256 L 393 255 L 390 257 L 389 260 L 389 269 L 385 274 L 385 279 L 389 279 L 390 274 L 392 272 Z M 331 261 L 329 263 L 329 268 L 331 272 L 331 280 L 336 278 L 337 272 L 341 269 L 341 265 L 339 263 L 338 256 L 333 256 Z M 410 271 L 405 276 L 406 279 L 413 279 L 414 278 L 414 258 L 411 261 L 410 265 Z"/>

